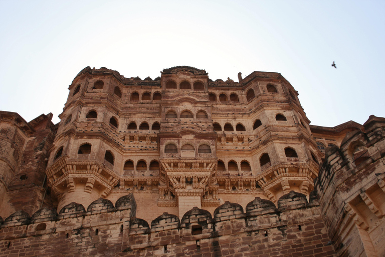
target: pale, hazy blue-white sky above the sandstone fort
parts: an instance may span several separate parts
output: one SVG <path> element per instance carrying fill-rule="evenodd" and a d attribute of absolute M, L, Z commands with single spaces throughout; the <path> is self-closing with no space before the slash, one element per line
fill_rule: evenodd
<path fill-rule="evenodd" d="M 0 110 L 56 123 L 86 66 L 154 79 L 187 65 L 213 80 L 280 72 L 311 124 L 363 123 L 385 116 L 384 13 L 385 1 L 0 0 Z"/>

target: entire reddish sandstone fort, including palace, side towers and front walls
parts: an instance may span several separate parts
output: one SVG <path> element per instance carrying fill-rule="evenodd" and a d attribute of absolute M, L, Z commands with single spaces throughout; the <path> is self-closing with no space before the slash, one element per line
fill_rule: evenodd
<path fill-rule="evenodd" d="M 0 111 L 0 256 L 385 256 L 385 118 L 238 80 L 86 67 L 58 124 Z"/>

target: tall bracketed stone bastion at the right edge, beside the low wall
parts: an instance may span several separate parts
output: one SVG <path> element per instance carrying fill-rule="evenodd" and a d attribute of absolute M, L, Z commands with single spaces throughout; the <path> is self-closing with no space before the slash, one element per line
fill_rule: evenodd
<path fill-rule="evenodd" d="M 385 119 L 326 149 L 316 182 L 325 227 L 337 256 L 384 256 Z"/>

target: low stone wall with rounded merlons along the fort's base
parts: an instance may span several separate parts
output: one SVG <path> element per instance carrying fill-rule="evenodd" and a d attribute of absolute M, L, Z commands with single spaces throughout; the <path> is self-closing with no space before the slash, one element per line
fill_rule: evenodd
<path fill-rule="evenodd" d="M 145 206 L 138 206 L 145 208 Z M 291 192 L 278 208 L 256 198 L 244 212 L 226 202 L 210 212 L 193 208 L 182 219 L 163 213 L 149 224 L 135 218 L 133 195 L 115 207 L 99 199 L 71 203 L 32 217 L 18 211 L 0 230 L 0 256 L 333 256 L 318 203 Z"/>

